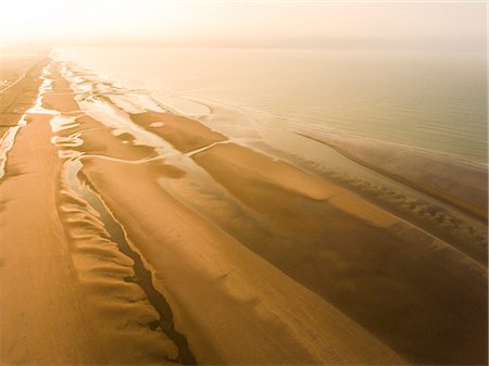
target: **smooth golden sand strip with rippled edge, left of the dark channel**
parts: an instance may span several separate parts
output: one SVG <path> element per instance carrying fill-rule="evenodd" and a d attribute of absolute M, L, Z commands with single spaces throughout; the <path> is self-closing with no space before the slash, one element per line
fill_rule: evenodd
<path fill-rule="evenodd" d="M 0 185 L 3 364 L 170 364 L 177 350 L 145 293 L 123 279 L 86 203 L 64 187 L 49 114 L 27 114 Z"/>

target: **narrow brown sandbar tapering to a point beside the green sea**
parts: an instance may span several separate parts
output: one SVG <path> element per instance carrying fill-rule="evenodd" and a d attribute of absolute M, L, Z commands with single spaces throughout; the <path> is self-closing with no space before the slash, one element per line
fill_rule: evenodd
<path fill-rule="evenodd" d="M 311 136 L 361 164 L 398 179 L 487 220 L 487 165 L 469 165 L 447 156 L 367 139 Z M 399 168 L 402 166 L 402 169 Z"/>

